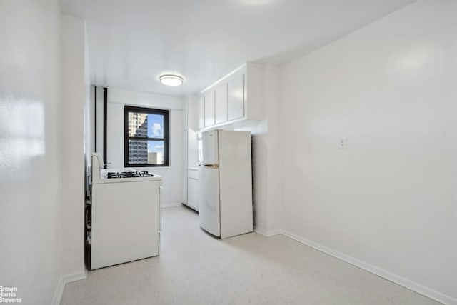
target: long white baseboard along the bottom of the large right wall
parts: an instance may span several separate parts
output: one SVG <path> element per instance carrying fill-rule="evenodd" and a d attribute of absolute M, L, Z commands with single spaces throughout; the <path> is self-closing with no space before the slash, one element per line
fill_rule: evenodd
<path fill-rule="evenodd" d="M 309 239 L 305 239 L 302 236 L 298 236 L 296 234 L 293 234 L 289 231 L 282 230 L 281 234 L 284 236 L 287 236 L 291 239 L 294 239 L 296 241 L 301 242 L 302 244 L 306 244 L 307 246 L 311 246 L 312 248 L 321 251 L 325 254 L 328 254 L 330 256 L 335 257 L 336 259 L 341 259 L 342 261 L 346 261 L 347 263 L 357 266 L 361 269 L 364 269 L 368 272 L 371 272 L 372 274 L 376 274 L 377 276 L 381 276 L 383 279 L 387 279 L 388 281 L 392 281 L 395 284 L 398 284 L 400 286 L 403 286 L 407 289 L 410 289 L 412 291 L 417 292 L 418 294 L 422 294 L 423 296 L 427 296 L 430 299 L 433 299 L 435 301 L 441 302 L 443 304 L 447 305 L 457 305 L 457 299 L 454 299 L 451 296 L 446 296 L 446 294 L 442 294 L 441 292 L 435 291 L 433 289 L 430 289 L 426 286 L 422 286 L 421 284 L 418 284 L 414 281 L 411 281 L 409 279 L 405 279 L 402 276 L 398 276 L 397 274 L 393 274 L 389 271 L 386 271 L 384 269 L 378 268 L 376 266 L 373 266 L 371 264 L 366 263 L 365 261 L 361 261 L 359 259 L 355 259 L 352 256 L 348 256 L 346 254 L 343 254 L 339 251 L 330 249 L 326 246 L 323 246 L 321 244 L 318 244 L 314 241 L 310 241 Z"/>

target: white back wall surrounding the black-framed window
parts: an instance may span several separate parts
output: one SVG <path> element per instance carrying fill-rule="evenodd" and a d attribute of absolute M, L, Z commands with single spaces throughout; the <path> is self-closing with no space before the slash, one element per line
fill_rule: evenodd
<path fill-rule="evenodd" d="M 108 89 L 106 162 L 111 163 L 108 165 L 111 168 L 124 167 L 124 105 L 170 109 L 170 166 L 168 168 L 146 168 L 162 176 L 162 184 L 164 186 L 164 193 L 162 194 L 163 206 L 181 204 L 181 189 L 184 176 L 183 102 L 184 100 L 181 97 L 176 96 L 115 88 Z M 97 121 L 97 124 L 101 124 L 101 122 Z"/>

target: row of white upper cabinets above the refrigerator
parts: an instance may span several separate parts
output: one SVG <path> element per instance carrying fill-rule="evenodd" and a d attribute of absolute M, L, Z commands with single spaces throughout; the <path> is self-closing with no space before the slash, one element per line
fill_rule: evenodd
<path fill-rule="evenodd" d="M 201 96 L 204 96 L 204 111 L 199 111 L 199 129 L 262 120 L 263 66 L 246 63 L 203 91 Z"/>

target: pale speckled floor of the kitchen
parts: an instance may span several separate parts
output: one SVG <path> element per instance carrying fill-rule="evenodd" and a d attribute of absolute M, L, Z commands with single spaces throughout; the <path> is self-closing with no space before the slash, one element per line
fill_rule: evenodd
<path fill-rule="evenodd" d="M 90 271 L 61 304 L 438 304 L 286 236 L 219 240 L 194 211 L 162 215 L 160 256 Z"/>

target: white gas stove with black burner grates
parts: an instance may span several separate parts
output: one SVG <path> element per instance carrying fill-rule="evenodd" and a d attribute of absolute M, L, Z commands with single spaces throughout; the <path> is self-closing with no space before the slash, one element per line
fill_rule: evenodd
<path fill-rule="evenodd" d="M 159 255 L 161 176 L 92 154 L 91 270 Z"/>

